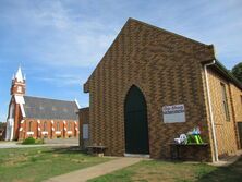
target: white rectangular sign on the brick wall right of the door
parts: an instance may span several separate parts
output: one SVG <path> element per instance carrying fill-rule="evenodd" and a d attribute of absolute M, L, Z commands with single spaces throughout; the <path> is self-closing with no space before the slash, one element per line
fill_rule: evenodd
<path fill-rule="evenodd" d="M 162 114 L 165 123 L 185 122 L 185 107 L 183 104 L 164 106 Z"/>

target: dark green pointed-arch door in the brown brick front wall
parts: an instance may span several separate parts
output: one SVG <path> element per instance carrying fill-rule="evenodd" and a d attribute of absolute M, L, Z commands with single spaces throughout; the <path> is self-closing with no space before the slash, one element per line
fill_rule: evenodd
<path fill-rule="evenodd" d="M 141 89 L 131 86 L 124 102 L 125 154 L 149 154 L 147 106 Z"/>

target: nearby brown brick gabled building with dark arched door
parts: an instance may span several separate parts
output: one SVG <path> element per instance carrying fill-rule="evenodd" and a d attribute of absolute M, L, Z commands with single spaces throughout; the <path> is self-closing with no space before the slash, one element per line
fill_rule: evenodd
<path fill-rule="evenodd" d="M 170 158 L 170 143 L 196 126 L 206 145 L 184 147 L 184 158 L 217 161 L 241 148 L 242 84 L 213 45 L 129 19 L 84 92 L 81 135 L 106 155 Z"/>

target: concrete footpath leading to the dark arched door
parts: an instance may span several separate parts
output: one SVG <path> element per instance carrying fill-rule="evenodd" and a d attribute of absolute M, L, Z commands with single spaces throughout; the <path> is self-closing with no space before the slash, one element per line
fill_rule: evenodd
<path fill-rule="evenodd" d="M 100 177 L 113 172 L 116 170 L 125 168 L 128 166 L 134 165 L 141 160 L 142 158 L 122 157 L 100 165 L 96 165 L 94 167 L 81 169 L 63 175 L 53 177 L 49 180 L 46 180 L 45 182 L 85 182 L 89 179 L 94 179 L 96 177 Z"/>

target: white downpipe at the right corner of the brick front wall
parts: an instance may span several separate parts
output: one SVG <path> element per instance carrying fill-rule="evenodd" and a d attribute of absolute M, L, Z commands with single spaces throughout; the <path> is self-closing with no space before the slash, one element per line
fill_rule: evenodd
<path fill-rule="evenodd" d="M 213 112 L 213 106 L 211 106 L 209 80 L 207 75 L 207 68 L 210 65 L 214 65 L 215 63 L 216 63 L 216 60 L 213 60 L 213 62 L 204 64 L 204 71 L 205 71 L 205 82 L 206 82 L 206 93 L 207 93 L 207 99 L 208 99 L 209 117 L 210 117 L 210 123 L 211 123 L 211 135 L 213 135 L 213 141 L 214 141 L 214 148 L 215 148 L 215 155 L 213 157 L 213 160 L 218 161 L 218 145 L 217 145 L 217 138 L 216 138 L 216 131 L 215 131 L 215 120 L 214 120 L 214 112 Z"/>

